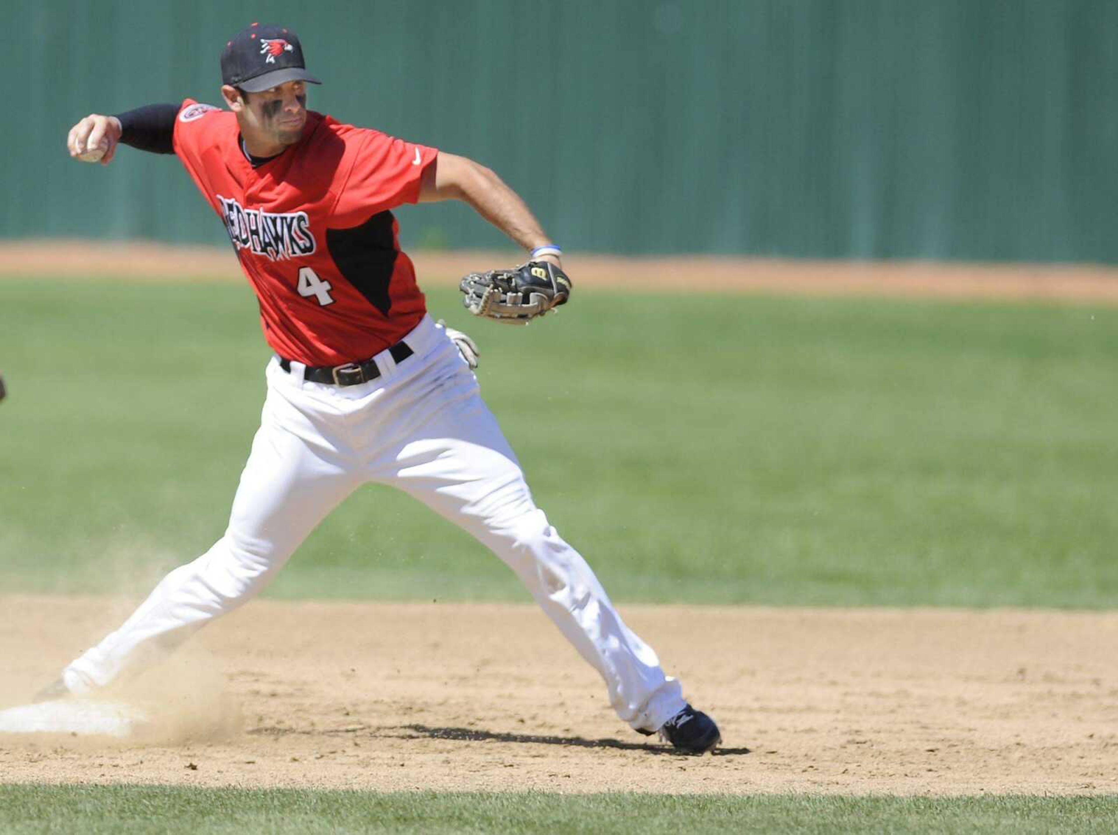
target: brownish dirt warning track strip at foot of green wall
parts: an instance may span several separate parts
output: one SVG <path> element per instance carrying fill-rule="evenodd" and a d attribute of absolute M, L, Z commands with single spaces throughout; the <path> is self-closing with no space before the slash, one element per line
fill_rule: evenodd
<path fill-rule="evenodd" d="M 420 286 L 457 283 L 466 273 L 511 265 L 518 253 L 413 254 Z M 563 266 L 579 290 L 688 293 L 902 296 L 1118 304 L 1118 268 L 1092 265 L 934 264 L 756 258 L 624 258 L 572 254 Z M 16 241 L 0 244 L 0 276 L 114 276 L 132 281 L 244 281 L 226 247 L 162 244 Z"/>

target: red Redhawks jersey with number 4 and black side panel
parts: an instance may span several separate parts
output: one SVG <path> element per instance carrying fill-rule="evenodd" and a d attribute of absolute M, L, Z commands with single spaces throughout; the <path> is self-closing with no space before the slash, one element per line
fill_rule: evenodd
<path fill-rule="evenodd" d="M 253 168 L 236 115 L 188 98 L 174 152 L 225 224 L 277 354 L 340 366 L 419 324 L 426 304 L 390 210 L 419 199 L 436 149 L 307 111 L 300 141 Z"/>

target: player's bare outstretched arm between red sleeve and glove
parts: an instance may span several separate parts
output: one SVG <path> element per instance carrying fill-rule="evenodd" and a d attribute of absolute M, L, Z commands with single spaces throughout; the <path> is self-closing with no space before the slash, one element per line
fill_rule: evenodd
<path fill-rule="evenodd" d="M 419 202 L 462 200 L 524 249 L 550 244 L 540 221 L 520 196 L 493 171 L 465 156 L 439 151 L 423 172 Z M 542 255 L 562 266 L 558 255 Z"/>

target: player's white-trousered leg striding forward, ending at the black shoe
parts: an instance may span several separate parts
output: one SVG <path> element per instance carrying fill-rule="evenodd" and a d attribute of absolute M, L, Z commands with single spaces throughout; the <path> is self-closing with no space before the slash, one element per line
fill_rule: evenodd
<path fill-rule="evenodd" d="M 420 378 L 388 392 L 386 407 L 397 410 L 401 439 L 382 452 L 370 476 L 416 496 L 492 549 L 601 674 L 617 714 L 635 729 L 660 729 L 685 704 L 679 682 L 664 674 L 586 560 L 532 503 L 512 449 L 449 340 L 429 364 L 424 378 L 432 383 Z"/>

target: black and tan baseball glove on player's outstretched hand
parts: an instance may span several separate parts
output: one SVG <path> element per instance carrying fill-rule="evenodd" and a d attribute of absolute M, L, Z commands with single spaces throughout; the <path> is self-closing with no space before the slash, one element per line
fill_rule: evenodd
<path fill-rule="evenodd" d="M 570 278 L 546 260 L 530 260 L 514 269 L 471 273 L 458 284 L 462 303 L 475 316 L 528 324 L 570 297 Z"/>

